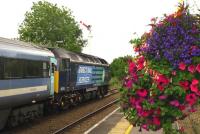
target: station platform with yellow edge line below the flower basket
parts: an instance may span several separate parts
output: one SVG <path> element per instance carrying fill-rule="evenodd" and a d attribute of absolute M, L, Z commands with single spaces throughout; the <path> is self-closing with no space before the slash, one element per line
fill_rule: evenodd
<path fill-rule="evenodd" d="M 84 134 L 162 134 L 162 130 L 158 132 L 148 132 L 138 127 L 133 127 L 117 108 L 100 122 L 88 129 Z"/>

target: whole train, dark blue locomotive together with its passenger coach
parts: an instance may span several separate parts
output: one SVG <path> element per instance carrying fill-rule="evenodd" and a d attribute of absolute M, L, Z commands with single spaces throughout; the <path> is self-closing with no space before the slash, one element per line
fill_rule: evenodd
<path fill-rule="evenodd" d="M 0 130 L 104 97 L 109 72 L 96 56 L 0 37 Z"/>

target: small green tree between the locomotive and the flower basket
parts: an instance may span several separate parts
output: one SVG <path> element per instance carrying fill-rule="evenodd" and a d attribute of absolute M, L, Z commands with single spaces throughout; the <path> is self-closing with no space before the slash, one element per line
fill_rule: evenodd
<path fill-rule="evenodd" d="M 128 68 L 128 60 L 131 56 L 124 56 L 115 58 L 110 64 L 111 76 L 121 80 L 126 76 L 126 69 Z"/>

